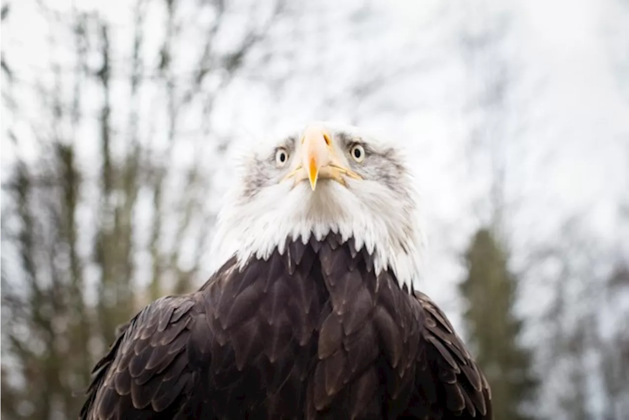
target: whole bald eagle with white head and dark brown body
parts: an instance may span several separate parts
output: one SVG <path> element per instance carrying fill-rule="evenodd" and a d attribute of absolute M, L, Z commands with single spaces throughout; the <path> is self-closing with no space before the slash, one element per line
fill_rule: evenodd
<path fill-rule="evenodd" d="M 413 288 L 423 236 L 399 150 L 316 123 L 242 169 L 213 275 L 121 329 L 80 418 L 491 419 L 486 378 Z"/>

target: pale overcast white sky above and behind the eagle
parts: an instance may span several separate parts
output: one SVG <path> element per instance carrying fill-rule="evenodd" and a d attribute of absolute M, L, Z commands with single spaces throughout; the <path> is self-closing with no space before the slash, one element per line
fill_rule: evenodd
<path fill-rule="evenodd" d="M 48 26 L 35 2 L 11 3 L 0 40 L 13 72 L 28 84 L 47 77 L 48 60 L 61 53 L 48 50 Z M 44 3 L 62 9 L 72 4 Z M 292 40 L 299 42 L 292 47 L 298 63 L 294 77 L 279 91 L 248 80 L 237 82 L 217 109 L 218 130 L 236 133 L 246 147 L 279 126 L 353 118 L 399 140 L 415 162 L 423 193 L 430 241 L 423 287 L 437 298 L 451 296 L 461 275 L 452 251 L 462 249 L 477 225 L 479 196 L 489 179 L 482 157 L 470 169 L 465 101 L 479 75 L 466 67 L 457 40 L 461 25 L 486 25 L 491 20 L 487 16 L 492 16 L 487 10 L 506 8 L 513 17 L 507 52 L 518 74 L 510 102 L 511 128 L 504 131 L 504 142 L 510 145 L 507 195 L 525 202 L 513 209 L 513 240 L 517 244 L 532 237 L 550 238 L 574 213 L 589 215 L 587 223 L 601 237 L 618 237 L 616 205 L 629 191 L 629 98 L 620 94 L 611 57 L 623 19 L 615 0 L 487 0 L 445 10 L 446 2 L 437 0 L 372 1 L 371 12 L 362 18 L 355 13 L 360 3 L 326 0 L 305 6 L 308 13 L 293 34 L 298 41 Z M 98 8 L 118 31 L 130 31 L 128 1 L 76 4 Z M 162 30 L 159 17 L 149 18 L 148 24 L 155 26 L 155 33 Z M 281 31 L 278 26 L 276 38 Z M 159 37 L 147 42 L 157 43 Z M 118 45 L 114 38 L 113 48 L 124 57 L 128 42 Z M 124 65 L 124 60 L 114 65 Z M 281 72 L 281 62 L 276 66 Z M 382 78 L 377 87 L 364 99 L 351 100 L 347 92 L 374 75 Z M 39 99 L 36 94 L 20 99 L 27 113 L 36 113 L 35 106 L 29 108 Z M 94 103 L 99 100 L 95 95 Z M 16 116 L 0 116 L 3 128 L 11 123 L 21 129 Z M 190 124 L 195 123 L 192 118 Z M 515 136 L 513 127 L 518 125 L 526 128 Z M 15 150 L 4 133 L 0 177 L 6 179 Z M 96 140 L 86 138 L 80 147 L 89 169 Z M 189 150 L 181 148 L 182 162 L 190 159 Z M 30 150 L 21 152 L 33 156 Z M 230 173 L 227 162 L 216 162 L 223 174 Z M 229 186 L 228 181 L 219 184 Z"/>

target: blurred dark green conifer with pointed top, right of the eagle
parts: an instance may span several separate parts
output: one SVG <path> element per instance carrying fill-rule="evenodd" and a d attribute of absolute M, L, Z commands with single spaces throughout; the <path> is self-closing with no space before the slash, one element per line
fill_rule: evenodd
<path fill-rule="evenodd" d="M 537 396 L 532 356 L 519 343 L 522 321 L 514 313 L 517 279 L 491 229 L 477 230 L 465 253 L 468 274 L 460 292 L 469 302 L 464 320 L 470 346 L 491 385 L 495 420 L 524 420 Z"/>

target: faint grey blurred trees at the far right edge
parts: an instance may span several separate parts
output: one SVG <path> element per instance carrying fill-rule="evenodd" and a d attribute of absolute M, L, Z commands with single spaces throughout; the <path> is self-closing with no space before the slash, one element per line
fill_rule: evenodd
<path fill-rule="evenodd" d="M 629 414 L 626 257 L 585 226 L 570 219 L 532 264 L 549 299 L 537 322 L 543 393 L 554 418 L 621 420 Z"/>

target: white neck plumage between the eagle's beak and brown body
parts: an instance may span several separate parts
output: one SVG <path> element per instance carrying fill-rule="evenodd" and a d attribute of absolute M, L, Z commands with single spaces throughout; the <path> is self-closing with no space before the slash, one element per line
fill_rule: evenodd
<path fill-rule="evenodd" d="M 343 241 L 353 238 L 357 251 L 365 247 L 374 257 L 376 273 L 391 270 L 409 288 L 418 281 L 424 240 L 415 201 L 391 205 L 365 200 L 382 198 L 382 191 L 359 200 L 337 183 L 318 188 L 316 194 L 307 184 L 284 188 L 263 190 L 248 200 L 238 191 L 228 197 L 231 203 L 219 215 L 212 246 L 214 270 L 234 255 L 242 268 L 251 258 L 269 258 L 275 249 L 284 253 L 287 239 L 305 244 L 311 236 L 319 240 L 335 232 Z"/>

